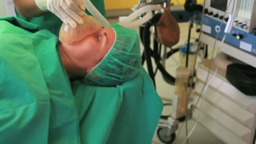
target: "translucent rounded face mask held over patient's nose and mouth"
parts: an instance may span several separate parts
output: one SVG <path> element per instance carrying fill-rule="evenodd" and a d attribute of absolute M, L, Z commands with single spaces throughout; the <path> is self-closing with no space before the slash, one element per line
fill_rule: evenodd
<path fill-rule="evenodd" d="M 93 16 L 83 15 L 83 24 L 77 24 L 72 29 L 68 24 L 62 24 L 59 32 L 59 40 L 61 43 L 70 44 L 80 41 L 87 35 L 91 35 L 101 29 L 101 24 Z"/>

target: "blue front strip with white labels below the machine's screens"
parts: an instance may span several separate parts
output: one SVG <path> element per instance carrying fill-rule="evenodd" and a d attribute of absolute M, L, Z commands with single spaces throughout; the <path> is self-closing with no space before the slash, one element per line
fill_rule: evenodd
<path fill-rule="evenodd" d="M 205 34 L 216 37 L 218 30 L 220 29 L 221 21 L 204 16 L 203 20 L 203 32 Z M 222 40 L 224 37 L 224 29 L 226 23 L 223 22 L 221 27 L 221 32 L 219 33 L 218 39 Z M 256 35 L 244 32 L 243 30 L 232 28 L 232 32 L 227 34 L 225 43 L 233 45 L 237 48 L 240 48 L 243 51 L 247 51 L 256 56 Z"/>

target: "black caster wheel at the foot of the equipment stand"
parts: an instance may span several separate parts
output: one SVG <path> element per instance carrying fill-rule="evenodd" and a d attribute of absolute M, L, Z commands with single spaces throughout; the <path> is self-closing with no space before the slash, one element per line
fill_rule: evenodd
<path fill-rule="evenodd" d="M 176 134 L 173 133 L 171 134 L 171 136 L 167 136 L 167 131 L 168 128 L 158 128 L 157 130 L 157 136 L 160 139 L 160 141 L 162 141 L 165 144 L 171 144 L 175 138 L 176 138 Z"/>

